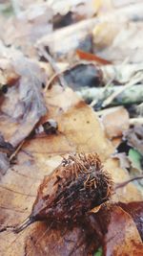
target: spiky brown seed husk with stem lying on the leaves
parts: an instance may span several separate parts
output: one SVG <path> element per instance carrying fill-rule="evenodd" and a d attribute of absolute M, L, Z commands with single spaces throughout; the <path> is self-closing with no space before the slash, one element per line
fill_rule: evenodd
<path fill-rule="evenodd" d="M 31 217 L 35 221 L 80 221 L 92 208 L 109 200 L 112 190 L 112 177 L 96 153 L 70 154 L 44 178 Z"/>

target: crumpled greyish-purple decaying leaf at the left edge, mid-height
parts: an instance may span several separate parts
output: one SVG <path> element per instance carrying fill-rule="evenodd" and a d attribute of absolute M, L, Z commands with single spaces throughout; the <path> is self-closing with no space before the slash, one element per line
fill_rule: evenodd
<path fill-rule="evenodd" d="M 40 67 L 22 55 L 10 63 L 20 78 L 10 86 L 1 104 L 0 126 L 5 139 L 15 147 L 31 133 L 47 109 L 42 96 L 45 76 Z"/>

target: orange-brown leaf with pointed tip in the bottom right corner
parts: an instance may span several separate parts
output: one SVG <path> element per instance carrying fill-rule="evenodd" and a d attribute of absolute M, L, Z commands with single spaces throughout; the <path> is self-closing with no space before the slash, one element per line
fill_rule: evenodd
<path fill-rule="evenodd" d="M 104 255 L 141 256 L 143 244 L 131 216 L 120 207 L 112 208 L 111 221 L 104 241 Z"/>

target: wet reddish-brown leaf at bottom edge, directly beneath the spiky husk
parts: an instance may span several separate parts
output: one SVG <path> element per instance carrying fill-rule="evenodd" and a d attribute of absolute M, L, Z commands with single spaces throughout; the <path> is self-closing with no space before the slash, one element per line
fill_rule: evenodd
<path fill-rule="evenodd" d="M 51 228 L 44 224 L 37 224 L 31 235 L 27 237 L 25 253 L 28 255 L 89 255 L 98 247 L 92 232 L 84 227 Z"/>

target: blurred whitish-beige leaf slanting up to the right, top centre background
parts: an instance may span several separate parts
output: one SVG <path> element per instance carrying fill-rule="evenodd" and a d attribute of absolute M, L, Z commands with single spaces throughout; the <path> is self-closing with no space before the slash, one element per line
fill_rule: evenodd
<path fill-rule="evenodd" d="M 58 59 L 72 59 L 75 50 L 92 51 L 92 27 L 96 24 L 96 19 L 88 19 L 57 30 L 52 35 L 45 35 L 37 40 L 36 47 L 48 47 L 51 56 Z M 76 36 L 75 36 L 76 35 Z M 76 39 L 75 39 L 76 37 Z M 64 44 L 62 43 L 64 41 Z M 53 48 L 54 45 L 54 48 Z"/>

